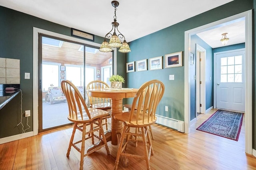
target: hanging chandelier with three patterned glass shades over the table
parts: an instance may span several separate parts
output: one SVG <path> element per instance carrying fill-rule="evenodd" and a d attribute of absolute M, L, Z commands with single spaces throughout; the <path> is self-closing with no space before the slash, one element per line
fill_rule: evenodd
<path fill-rule="evenodd" d="M 116 48 L 120 47 L 120 49 L 118 50 L 119 52 L 129 53 L 131 51 L 131 49 L 130 49 L 128 43 L 126 42 L 124 35 L 122 35 L 122 33 L 119 32 L 119 30 L 118 30 L 119 23 L 116 22 L 116 18 L 117 18 L 116 17 L 116 10 L 117 10 L 116 7 L 119 6 L 119 2 L 114 0 L 114 1 L 111 2 L 111 4 L 115 8 L 115 12 L 114 12 L 115 15 L 113 17 L 114 22 L 111 23 L 112 29 L 105 35 L 105 39 L 104 39 L 103 43 L 101 44 L 100 51 L 110 52 L 110 51 L 112 51 L 111 47 L 116 47 Z M 114 33 L 112 34 L 111 31 L 113 29 L 114 29 Z M 118 35 L 116 34 L 116 31 L 118 32 Z M 106 37 L 109 38 L 110 36 L 112 36 L 112 37 L 110 38 L 110 41 L 108 43 L 106 41 Z M 124 39 L 123 43 L 121 43 L 121 41 L 118 37 L 120 37 L 121 39 Z"/>

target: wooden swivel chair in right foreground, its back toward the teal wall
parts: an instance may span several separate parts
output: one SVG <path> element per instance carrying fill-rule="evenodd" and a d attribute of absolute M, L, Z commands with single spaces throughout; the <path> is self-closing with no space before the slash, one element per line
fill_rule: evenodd
<path fill-rule="evenodd" d="M 156 122 L 156 108 L 162 99 L 163 94 L 164 84 L 161 81 L 148 81 L 144 83 L 136 93 L 130 111 L 114 115 L 114 119 L 122 121 L 124 124 L 114 170 L 118 168 L 119 158 L 121 155 L 145 159 L 147 169 L 150 169 L 149 160 L 150 156 L 154 154 L 154 150 L 150 135 L 148 135 L 148 127 Z M 133 133 L 130 131 L 130 127 L 140 128 L 141 132 Z M 130 135 L 138 138 L 130 138 Z M 125 142 L 124 139 L 126 139 Z M 142 143 L 144 147 L 144 154 L 137 155 L 125 153 L 124 151 L 129 141 Z M 149 145 L 149 149 L 147 145 Z M 129 152 L 129 150 L 126 152 Z"/>

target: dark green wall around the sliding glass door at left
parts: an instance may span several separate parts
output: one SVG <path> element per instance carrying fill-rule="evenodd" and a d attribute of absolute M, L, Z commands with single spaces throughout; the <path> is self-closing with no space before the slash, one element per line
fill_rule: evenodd
<path fill-rule="evenodd" d="M 20 59 L 22 113 L 31 110 L 32 115 L 28 117 L 30 129 L 26 132 L 33 130 L 33 27 L 71 36 L 70 27 L 0 6 L 0 57 Z M 95 35 L 94 39 L 95 43 L 101 44 L 104 38 Z M 117 63 L 125 63 L 125 54 L 117 53 Z M 24 72 L 30 72 L 30 79 L 24 79 Z M 126 68 L 123 64 L 117 64 L 117 73 L 125 76 Z M 14 101 L 0 110 L 0 138 L 22 133 L 22 126 L 16 126 L 20 122 L 20 96 Z M 25 117 L 22 123 L 26 125 Z"/>

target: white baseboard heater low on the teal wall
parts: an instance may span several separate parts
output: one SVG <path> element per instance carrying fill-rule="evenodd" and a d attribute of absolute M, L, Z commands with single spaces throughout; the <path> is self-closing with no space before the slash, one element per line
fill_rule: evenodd
<path fill-rule="evenodd" d="M 170 127 L 172 129 L 175 129 L 179 132 L 184 133 L 184 121 L 172 119 L 170 117 L 165 117 L 161 115 L 156 115 L 156 117 L 157 117 L 157 120 L 156 120 L 157 124 Z"/>

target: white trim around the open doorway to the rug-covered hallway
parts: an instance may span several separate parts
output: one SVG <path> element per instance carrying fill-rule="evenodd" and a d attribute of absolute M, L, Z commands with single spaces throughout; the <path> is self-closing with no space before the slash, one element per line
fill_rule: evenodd
<path fill-rule="evenodd" d="M 184 49 L 184 124 L 185 133 L 190 132 L 190 74 L 189 74 L 189 54 L 190 37 L 196 33 L 210 30 L 226 22 L 245 18 L 245 54 L 246 54 L 246 85 L 245 85 L 245 152 L 252 154 L 252 10 L 224 18 L 200 27 L 185 31 Z"/>

